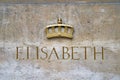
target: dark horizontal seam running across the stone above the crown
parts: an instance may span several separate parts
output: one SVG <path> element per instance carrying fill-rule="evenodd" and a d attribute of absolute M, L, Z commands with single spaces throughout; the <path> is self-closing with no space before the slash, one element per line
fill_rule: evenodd
<path fill-rule="evenodd" d="M 108 4 L 108 5 L 120 5 L 120 2 L 0 2 L 0 5 L 13 5 L 13 4 L 47 4 L 47 5 L 56 5 L 56 4 L 73 4 L 73 5 L 95 5 L 95 4 Z"/>

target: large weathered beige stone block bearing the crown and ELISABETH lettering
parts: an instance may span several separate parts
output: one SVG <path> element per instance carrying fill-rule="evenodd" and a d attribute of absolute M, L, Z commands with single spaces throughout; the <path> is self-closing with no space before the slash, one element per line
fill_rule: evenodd
<path fill-rule="evenodd" d="M 47 39 L 45 28 L 61 17 L 74 27 L 73 39 Z M 0 4 L 0 80 L 120 80 L 120 3 L 105 4 Z M 80 60 L 37 60 L 35 47 L 55 47 L 62 56 L 62 46 L 90 46 L 88 59 L 77 49 Z M 104 60 L 94 49 L 101 52 Z M 16 47 L 23 47 L 22 60 L 16 60 Z M 22 51 L 22 50 L 21 50 Z M 39 52 L 42 54 L 42 52 Z M 75 57 L 78 57 L 75 56 Z M 23 59 L 24 58 L 24 59 Z"/>

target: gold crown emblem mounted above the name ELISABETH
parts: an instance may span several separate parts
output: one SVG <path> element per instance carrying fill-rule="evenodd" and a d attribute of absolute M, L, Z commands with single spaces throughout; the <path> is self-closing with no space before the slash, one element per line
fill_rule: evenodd
<path fill-rule="evenodd" d="M 47 38 L 65 37 L 73 38 L 73 27 L 67 24 L 62 24 L 62 19 L 58 19 L 57 24 L 48 25 L 45 29 Z"/>

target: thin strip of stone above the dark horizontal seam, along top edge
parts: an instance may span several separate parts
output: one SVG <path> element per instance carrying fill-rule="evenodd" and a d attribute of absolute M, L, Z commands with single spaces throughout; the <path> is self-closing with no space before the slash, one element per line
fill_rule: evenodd
<path fill-rule="evenodd" d="M 0 0 L 1 3 L 120 2 L 120 0 Z"/>

